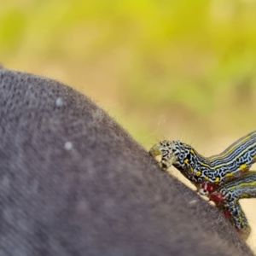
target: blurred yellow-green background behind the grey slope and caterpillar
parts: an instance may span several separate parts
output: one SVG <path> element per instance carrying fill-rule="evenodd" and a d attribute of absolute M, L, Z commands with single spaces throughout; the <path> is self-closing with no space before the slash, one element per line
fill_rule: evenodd
<path fill-rule="evenodd" d="M 145 148 L 210 155 L 256 129 L 256 0 L 3 0 L 0 61 L 72 85 Z"/>

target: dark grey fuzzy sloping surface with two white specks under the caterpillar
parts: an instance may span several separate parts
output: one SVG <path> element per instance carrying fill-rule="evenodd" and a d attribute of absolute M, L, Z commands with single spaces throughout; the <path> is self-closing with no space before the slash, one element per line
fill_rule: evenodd
<path fill-rule="evenodd" d="M 218 210 L 96 103 L 0 69 L 1 256 L 241 254 Z"/>

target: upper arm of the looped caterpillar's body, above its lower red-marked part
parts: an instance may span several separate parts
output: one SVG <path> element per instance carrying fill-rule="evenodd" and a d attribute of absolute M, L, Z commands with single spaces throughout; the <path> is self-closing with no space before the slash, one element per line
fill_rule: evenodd
<path fill-rule="evenodd" d="M 241 137 L 221 154 L 204 157 L 180 141 L 162 141 L 150 148 L 154 157 L 161 155 L 160 167 L 175 166 L 201 195 L 208 195 L 224 183 L 240 177 L 256 161 L 256 131 Z"/>

